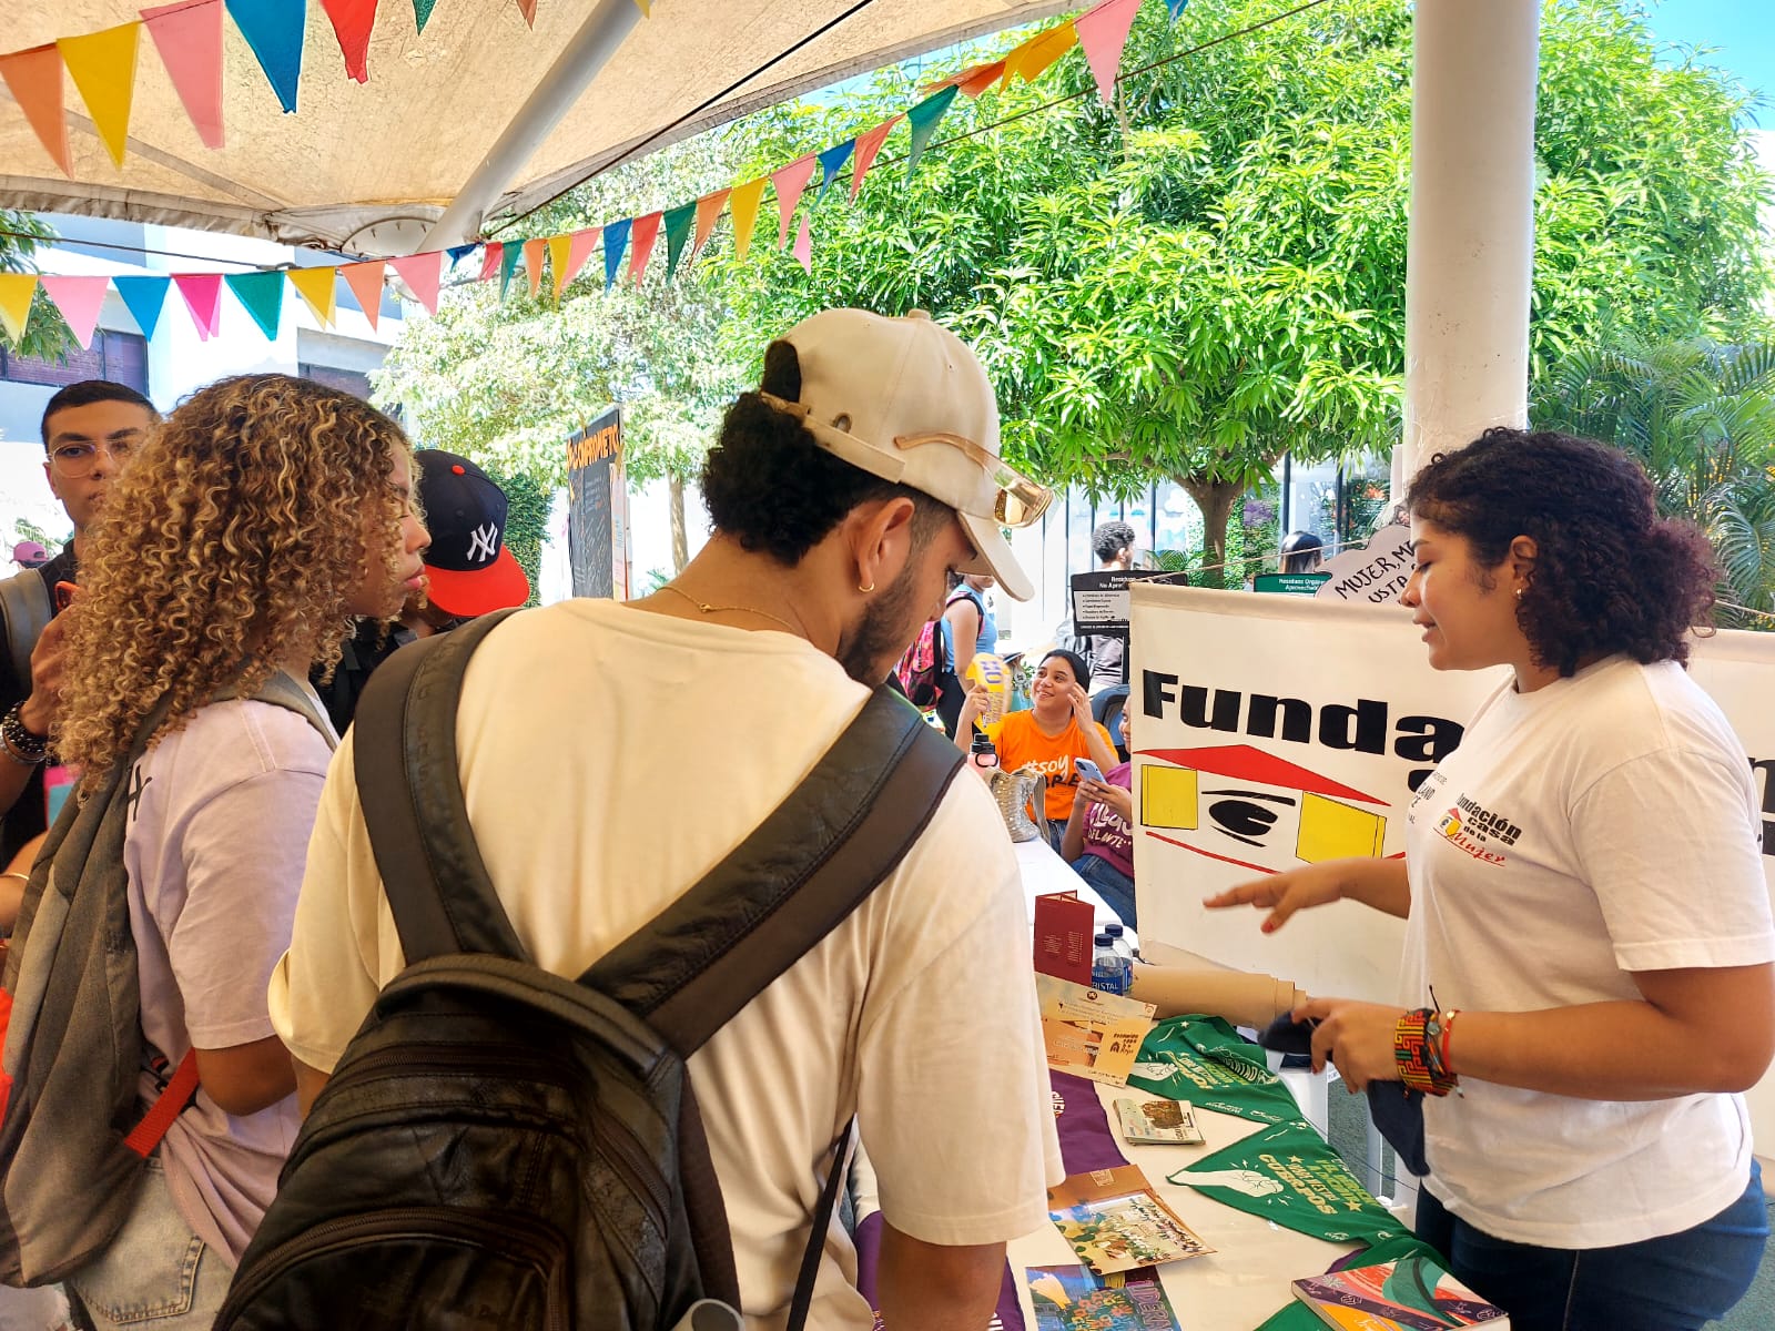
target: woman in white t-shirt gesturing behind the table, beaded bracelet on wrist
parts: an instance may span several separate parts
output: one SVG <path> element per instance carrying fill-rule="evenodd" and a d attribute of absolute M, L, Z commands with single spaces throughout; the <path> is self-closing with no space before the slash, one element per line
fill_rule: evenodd
<path fill-rule="evenodd" d="M 1741 1091 L 1775 1051 L 1755 784 L 1683 669 L 1711 550 L 1628 454 L 1564 435 L 1489 429 L 1408 508 L 1431 666 L 1511 678 L 1418 788 L 1402 862 L 1207 903 L 1408 919 L 1409 1006 L 1296 1019 L 1351 1090 L 1427 1091 L 1418 1235 L 1518 1331 L 1699 1327 L 1766 1240 Z"/>

